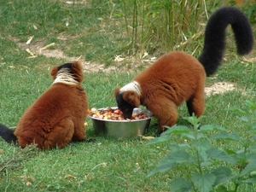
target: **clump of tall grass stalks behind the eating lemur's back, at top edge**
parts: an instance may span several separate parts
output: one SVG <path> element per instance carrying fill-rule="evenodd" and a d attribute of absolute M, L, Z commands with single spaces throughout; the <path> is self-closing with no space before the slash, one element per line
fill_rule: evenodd
<path fill-rule="evenodd" d="M 126 32 L 131 38 L 129 54 L 160 55 L 168 50 L 184 50 L 196 55 L 202 46 L 203 23 L 208 19 L 207 7 L 210 7 L 205 0 L 123 0 L 122 3 Z M 214 6 L 219 7 L 215 3 Z"/>

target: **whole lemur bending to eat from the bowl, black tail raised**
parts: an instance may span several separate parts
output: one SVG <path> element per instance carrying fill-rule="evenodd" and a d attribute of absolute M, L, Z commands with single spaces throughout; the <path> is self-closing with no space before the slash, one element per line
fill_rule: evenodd
<path fill-rule="evenodd" d="M 231 25 L 237 52 L 245 55 L 253 49 L 253 30 L 241 10 L 223 7 L 207 22 L 205 42 L 198 59 L 184 52 L 163 55 L 152 66 L 139 73 L 130 84 L 115 88 L 113 95 L 125 119 L 133 108 L 146 106 L 159 123 L 172 126 L 177 121 L 177 107 L 187 103 L 189 114 L 197 117 L 204 112 L 206 76 L 215 73 L 224 55 L 225 29 Z"/>

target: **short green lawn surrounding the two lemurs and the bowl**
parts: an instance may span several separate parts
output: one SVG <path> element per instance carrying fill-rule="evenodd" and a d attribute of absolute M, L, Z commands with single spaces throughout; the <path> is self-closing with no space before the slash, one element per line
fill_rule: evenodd
<path fill-rule="evenodd" d="M 123 12 L 121 3 L 113 1 L 113 6 L 103 0 L 88 1 L 83 5 L 64 2 L 0 1 L 0 123 L 11 127 L 17 125 L 24 110 L 52 83 L 49 67 L 67 62 L 44 55 L 28 58 L 28 53 L 18 43 L 25 44 L 31 36 L 34 36 L 32 44 L 55 43 L 52 49 L 61 49 L 67 56 L 82 55 L 82 60 L 118 68 L 124 63 L 129 64 L 129 70 L 120 67 L 120 70 L 110 73 L 104 70 L 84 73 L 83 86 L 89 96 L 90 108 L 115 106 L 113 88 L 130 82 L 145 67 L 143 64 L 133 67 L 133 62 L 141 62 L 139 56 L 131 58 L 125 55 L 128 49 L 124 48 L 131 39 L 126 34 L 125 20 L 118 15 Z M 209 8 L 211 12 L 212 8 Z M 255 34 L 255 26 L 253 28 Z M 201 42 L 202 37 L 192 39 L 193 45 L 187 45 L 183 50 L 192 54 L 194 45 L 201 46 Z M 149 56 L 161 51 L 156 50 Z M 116 63 L 113 61 L 115 55 L 129 56 L 129 60 Z M 247 56 L 253 57 L 255 51 Z M 242 58 L 236 55 L 232 45 L 226 50 L 225 59 L 218 73 L 207 79 L 207 85 L 228 81 L 236 84 L 238 91 L 207 96 L 205 118 L 201 123 L 223 125 L 230 132 L 243 134 L 247 126 L 226 109 L 231 106 L 245 108 L 246 100 L 254 100 L 255 67 L 253 63 L 241 63 Z M 188 125 L 183 119 L 188 116 L 186 106 L 182 105 L 178 110 L 177 124 Z M 90 119 L 86 121 L 89 123 L 86 135 L 95 137 L 96 143 L 71 143 L 61 150 L 38 151 L 20 149 L 1 139 L 0 191 L 169 191 L 172 179 L 186 172 L 181 167 L 176 172 L 146 178 L 148 172 L 169 153 L 168 144 L 145 146 L 148 141 L 143 139 L 96 137 Z M 154 123 L 155 119 L 147 136 L 155 137 Z M 175 137 L 173 142 L 183 141 Z M 240 148 L 228 141 L 216 143 L 216 146 Z"/>

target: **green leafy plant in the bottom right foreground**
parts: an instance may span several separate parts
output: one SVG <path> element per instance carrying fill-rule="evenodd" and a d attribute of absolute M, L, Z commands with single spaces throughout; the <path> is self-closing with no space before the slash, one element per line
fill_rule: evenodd
<path fill-rule="evenodd" d="M 200 125 L 201 118 L 195 116 L 185 118 L 193 129 L 182 125 L 166 126 L 167 131 L 147 145 L 171 141 L 171 153 L 160 160 L 147 177 L 168 170 L 175 172 L 182 167 L 184 174 L 172 181 L 172 191 L 238 191 L 241 184 L 253 188 L 253 183 L 256 183 L 256 123 L 252 120 L 256 114 L 256 103 L 247 101 L 246 105 L 247 111 L 229 109 L 247 123 L 244 136 L 219 125 Z M 183 143 L 172 143 L 176 136 L 182 138 Z M 233 142 L 236 147 L 218 146 L 223 141 Z"/>

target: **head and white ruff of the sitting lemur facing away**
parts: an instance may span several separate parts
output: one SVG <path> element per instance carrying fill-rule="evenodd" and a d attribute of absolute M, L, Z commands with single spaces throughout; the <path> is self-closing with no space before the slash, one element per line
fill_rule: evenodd
<path fill-rule="evenodd" d="M 83 67 L 79 61 L 52 67 L 50 75 L 55 80 L 54 83 L 80 84 L 84 79 Z"/>

